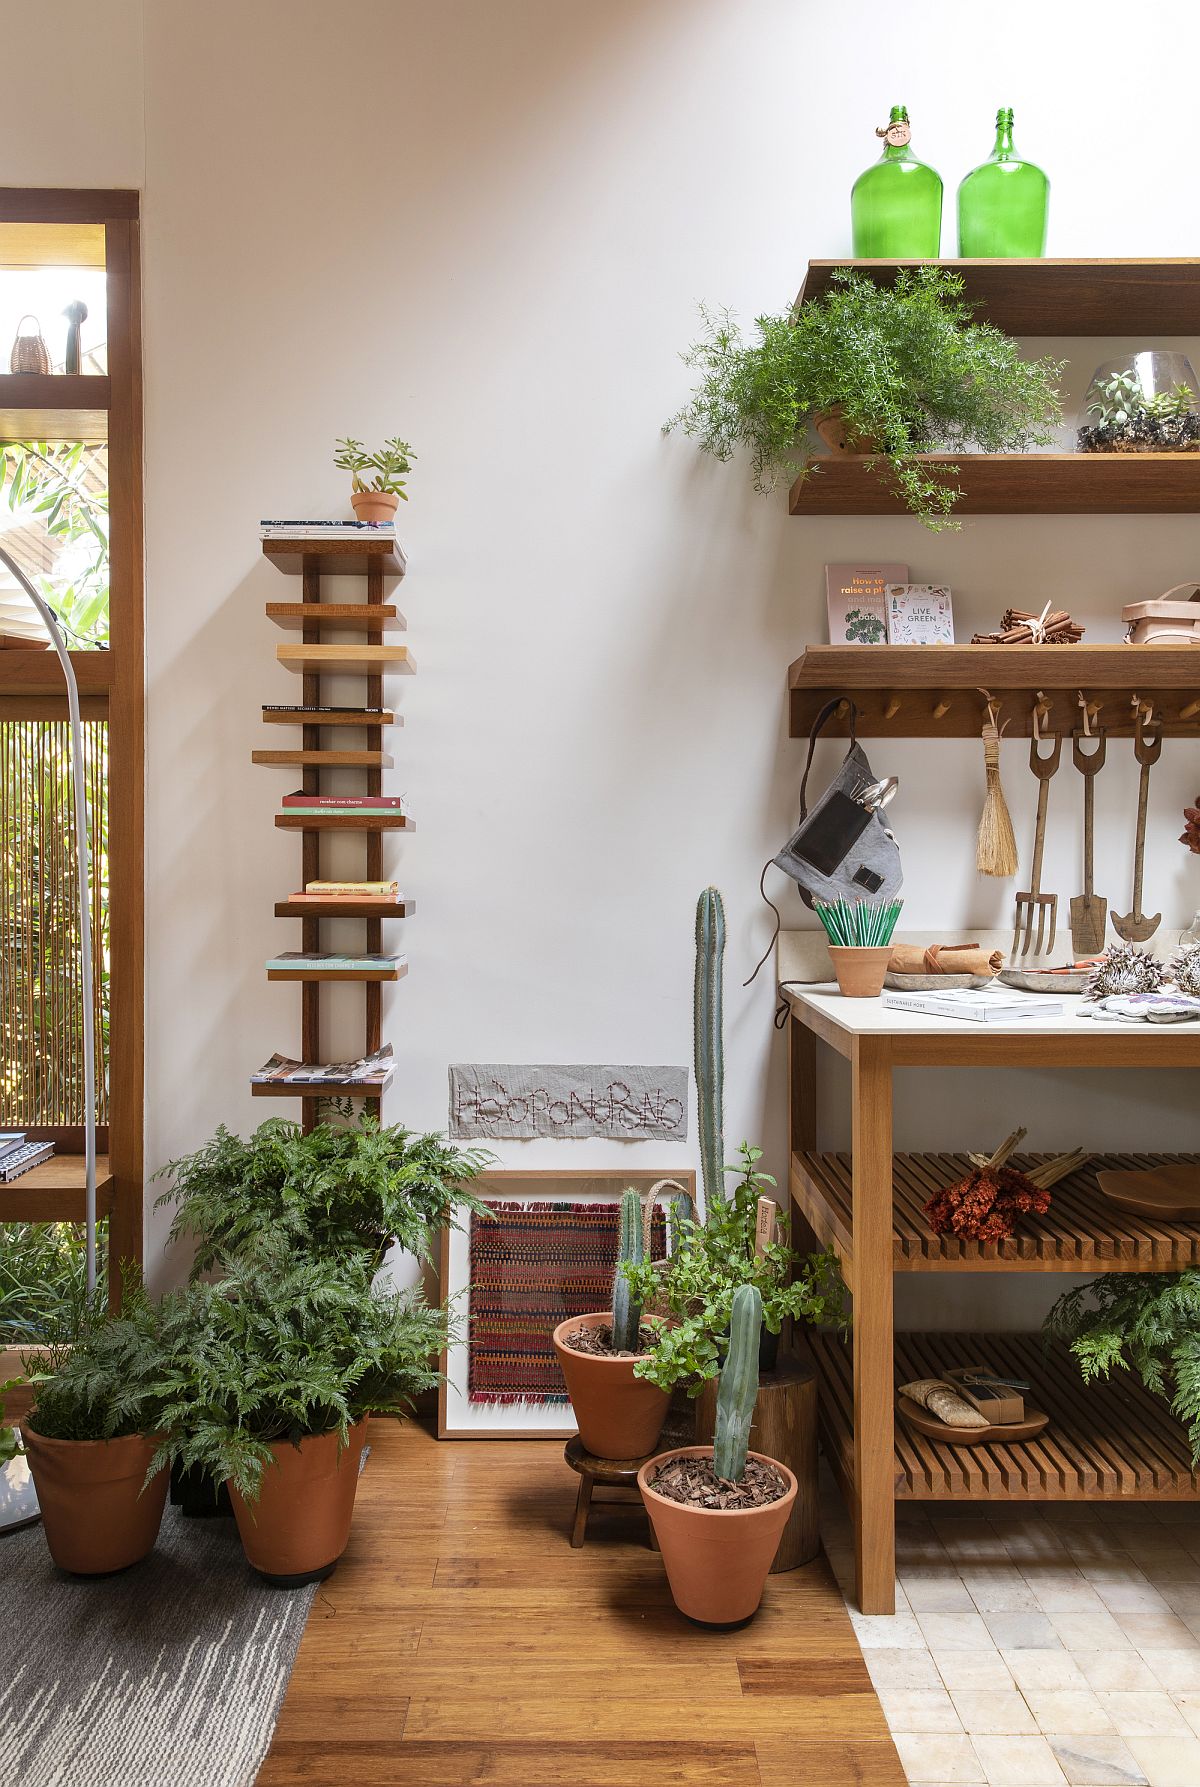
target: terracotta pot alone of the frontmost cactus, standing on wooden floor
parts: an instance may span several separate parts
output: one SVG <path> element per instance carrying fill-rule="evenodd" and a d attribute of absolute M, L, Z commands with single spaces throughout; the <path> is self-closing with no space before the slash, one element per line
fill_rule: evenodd
<path fill-rule="evenodd" d="M 788 1494 L 762 1508 L 720 1510 L 689 1508 L 682 1501 L 668 1501 L 650 1487 L 650 1478 L 671 1458 L 712 1458 L 711 1446 L 680 1446 L 661 1453 L 646 1458 L 638 1472 L 638 1489 L 662 1553 L 671 1599 L 680 1614 L 704 1626 L 738 1626 L 757 1614 L 796 1499 L 796 1480 L 786 1464 L 762 1453 L 748 1456 L 773 1464 L 788 1480 Z"/>

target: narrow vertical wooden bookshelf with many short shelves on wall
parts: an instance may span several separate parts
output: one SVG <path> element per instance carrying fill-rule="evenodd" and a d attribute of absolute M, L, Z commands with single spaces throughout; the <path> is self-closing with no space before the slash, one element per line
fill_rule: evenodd
<path fill-rule="evenodd" d="M 298 715 L 262 709 L 262 720 L 271 724 L 291 724 L 302 727 L 298 751 L 255 751 L 252 761 L 271 767 L 300 768 L 300 786 L 305 793 L 321 793 L 321 777 L 327 770 L 357 768 L 364 776 L 364 793 L 382 793 L 382 776 L 391 768 L 391 756 L 384 751 L 384 731 L 402 726 L 404 720 L 384 709 L 384 677 L 391 674 L 411 675 L 414 672 L 412 656 L 407 645 L 384 642 L 386 633 L 404 631 L 407 622 L 391 602 L 384 602 L 384 579 L 400 579 L 405 572 L 405 559 L 391 533 L 368 534 L 362 540 L 307 540 L 307 538 L 271 538 L 262 541 L 264 556 L 288 575 L 300 577 L 298 602 L 268 602 L 266 615 L 275 625 L 288 633 L 298 633 L 300 642 L 288 642 L 277 647 L 277 659 L 300 677 L 300 702 L 304 708 L 327 706 L 323 681 L 329 675 L 361 675 L 364 679 L 364 706 L 379 708 L 366 720 L 343 715 L 321 715 L 318 720 L 302 720 Z M 362 577 L 366 583 L 364 602 L 327 602 L 321 600 L 321 577 Z M 327 633 L 361 633 L 359 645 L 325 643 Z M 362 731 L 366 745 L 362 749 L 341 749 L 339 729 L 355 726 Z M 325 745 L 323 734 L 334 743 Z M 371 813 L 345 815 L 321 813 L 304 815 L 280 811 L 275 824 L 286 831 L 300 833 L 302 888 L 309 881 L 321 879 L 321 835 L 327 831 L 361 831 L 366 842 L 366 863 L 361 879 L 384 879 L 384 833 L 412 831 L 407 815 Z M 407 919 L 414 911 L 412 901 L 396 902 L 386 913 L 375 906 L 359 906 L 354 901 L 329 901 L 327 904 L 277 901 L 277 919 L 300 919 L 300 947 L 321 947 L 321 922 L 327 919 L 362 919 L 366 929 L 364 951 L 382 949 L 384 919 Z M 382 981 L 400 979 L 407 972 L 405 963 L 396 963 L 391 972 L 364 969 L 359 974 L 320 969 L 302 969 L 288 974 L 268 974 L 270 979 L 295 979 L 300 983 L 300 1060 L 305 1063 L 321 1061 L 321 986 L 330 981 L 357 981 L 364 992 L 364 1054 L 371 1054 L 382 1044 Z M 382 1085 L 362 1086 L 355 1083 L 321 1083 L 320 1094 L 307 1094 L 296 1085 L 266 1083 L 254 1085 L 255 1097 L 298 1097 L 302 1101 L 302 1124 L 311 1129 L 318 1120 L 318 1106 L 323 1097 L 368 1097 L 382 1099 Z"/>

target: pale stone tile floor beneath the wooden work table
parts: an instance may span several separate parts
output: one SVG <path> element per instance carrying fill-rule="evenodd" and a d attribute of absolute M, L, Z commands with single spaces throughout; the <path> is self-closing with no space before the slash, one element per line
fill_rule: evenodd
<path fill-rule="evenodd" d="M 911 1787 L 1200 1787 L 1200 1505 L 900 1505 L 895 1617 L 821 1519 Z"/>

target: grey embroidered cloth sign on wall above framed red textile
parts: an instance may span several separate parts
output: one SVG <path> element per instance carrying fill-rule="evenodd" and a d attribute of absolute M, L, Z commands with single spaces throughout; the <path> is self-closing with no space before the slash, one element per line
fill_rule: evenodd
<path fill-rule="evenodd" d="M 686 1067 L 450 1067 L 450 1135 L 688 1138 Z"/>

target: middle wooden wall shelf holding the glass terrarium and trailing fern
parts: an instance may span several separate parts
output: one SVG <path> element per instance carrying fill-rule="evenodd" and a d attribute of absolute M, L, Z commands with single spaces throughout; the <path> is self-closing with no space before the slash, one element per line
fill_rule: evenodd
<path fill-rule="evenodd" d="M 961 490 L 955 515 L 1195 515 L 1200 452 L 921 454 L 957 466 L 945 482 Z M 811 477 L 791 486 L 791 515 L 907 515 L 866 454 L 812 456 Z"/>

